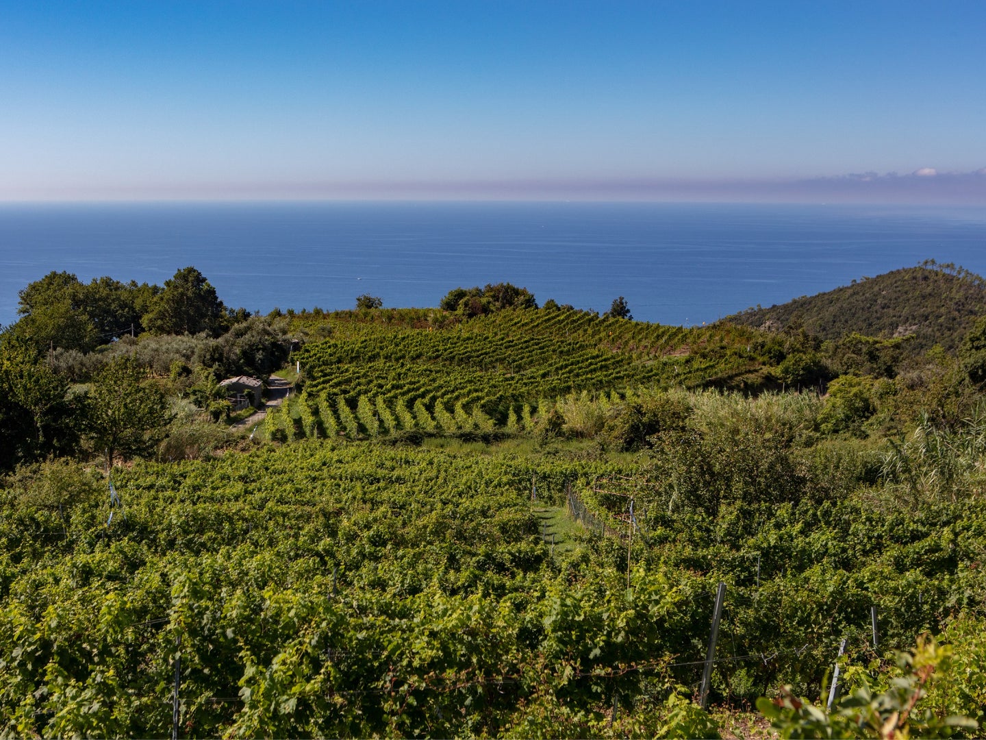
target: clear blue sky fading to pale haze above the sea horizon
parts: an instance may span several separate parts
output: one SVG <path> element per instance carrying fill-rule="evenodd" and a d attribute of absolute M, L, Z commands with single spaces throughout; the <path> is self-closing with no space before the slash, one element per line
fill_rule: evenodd
<path fill-rule="evenodd" d="M 986 2 L 0 1 L 0 200 L 986 204 Z"/>

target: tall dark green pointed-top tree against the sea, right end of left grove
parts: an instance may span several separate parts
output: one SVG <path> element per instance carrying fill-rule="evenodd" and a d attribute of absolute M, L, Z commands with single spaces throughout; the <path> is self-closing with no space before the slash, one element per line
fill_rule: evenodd
<path fill-rule="evenodd" d="M 148 331 L 158 334 L 197 334 L 214 336 L 223 330 L 226 307 L 216 289 L 194 267 L 179 269 L 154 300 L 144 317 Z"/>

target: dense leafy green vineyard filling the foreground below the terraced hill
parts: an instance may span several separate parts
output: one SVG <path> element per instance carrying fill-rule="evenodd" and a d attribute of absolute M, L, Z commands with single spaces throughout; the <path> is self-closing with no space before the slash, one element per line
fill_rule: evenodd
<path fill-rule="evenodd" d="M 840 640 L 858 679 L 927 629 L 981 672 L 977 497 L 901 498 L 873 453 L 806 443 L 809 398 L 691 404 L 643 457 L 340 439 L 138 464 L 112 491 L 23 471 L 3 731 L 161 736 L 177 696 L 189 737 L 687 735 L 720 582 L 715 703 L 816 695 Z M 592 516 L 555 549 L 537 512 L 573 499 Z M 974 714 L 969 681 L 929 701 Z"/>

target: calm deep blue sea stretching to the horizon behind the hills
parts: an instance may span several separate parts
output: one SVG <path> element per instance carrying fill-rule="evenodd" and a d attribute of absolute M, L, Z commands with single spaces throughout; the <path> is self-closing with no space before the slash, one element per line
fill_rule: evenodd
<path fill-rule="evenodd" d="M 712 322 L 924 259 L 986 274 L 986 208 L 654 203 L 0 206 L 0 324 L 50 270 L 163 284 L 194 265 L 230 306 L 436 306 L 508 280 L 539 303 Z"/>

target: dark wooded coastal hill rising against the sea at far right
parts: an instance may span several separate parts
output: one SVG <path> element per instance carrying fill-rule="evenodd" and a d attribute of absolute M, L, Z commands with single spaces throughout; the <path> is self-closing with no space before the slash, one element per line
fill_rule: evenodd
<path fill-rule="evenodd" d="M 726 321 L 774 331 L 804 328 L 825 339 L 849 333 L 909 336 L 911 351 L 918 352 L 935 344 L 954 350 L 983 314 L 983 278 L 952 264 L 928 260 L 779 306 L 747 309 Z"/>

